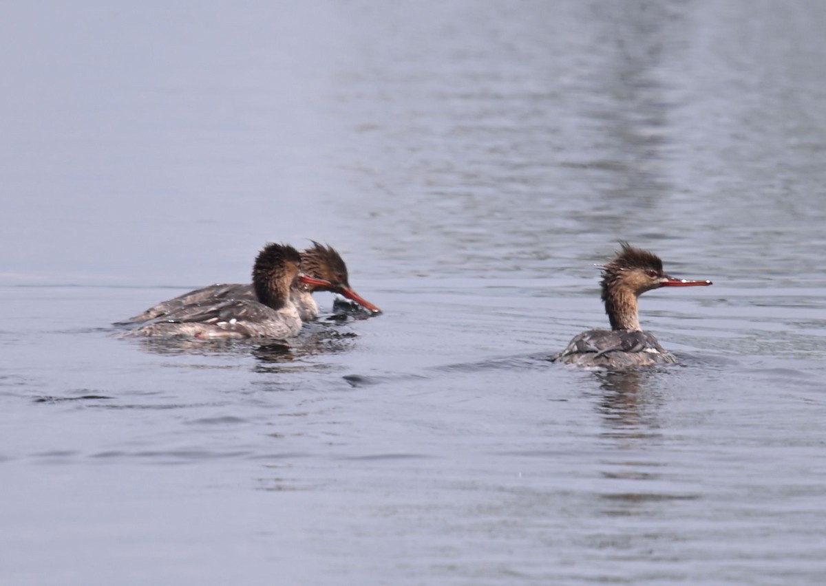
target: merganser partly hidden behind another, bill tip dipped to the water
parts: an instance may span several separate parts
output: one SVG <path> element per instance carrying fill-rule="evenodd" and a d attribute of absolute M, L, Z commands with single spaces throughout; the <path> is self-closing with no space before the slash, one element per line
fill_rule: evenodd
<path fill-rule="evenodd" d="M 302 321 L 311 321 L 318 317 L 318 305 L 312 298 L 315 291 L 331 291 L 344 295 L 353 300 L 372 314 L 380 314 L 382 310 L 368 300 L 358 295 L 350 287 L 347 274 L 347 265 L 341 255 L 331 246 L 324 246 L 315 240 L 312 248 L 301 253 L 301 270 L 305 275 L 316 281 L 295 281 L 290 289 L 292 303 L 296 305 Z M 150 307 L 141 314 L 118 322 L 117 325 L 143 324 L 147 321 L 163 318 L 180 310 L 187 305 L 213 305 L 223 300 L 250 300 L 258 301 L 254 285 L 242 283 L 219 283 L 189 291 L 174 299 L 163 301 Z"/>

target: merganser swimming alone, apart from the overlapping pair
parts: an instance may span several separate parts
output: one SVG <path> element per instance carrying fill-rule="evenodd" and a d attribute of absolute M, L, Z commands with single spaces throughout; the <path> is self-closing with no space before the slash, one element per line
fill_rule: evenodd
<path fill-rule="evenodd" d="M 637 297 L 659 287 L 711 285 L 711 281 L 686 281 L 662 272 L 662 260 L 647 250 L 620 242 L 622 250 L 602 267 L 602 300 L 611 329 L 589 329 L 571 340 L 554 361 L 577 366 L 622 369 L 677 362 L 652 333 L 639 327 Z"/>

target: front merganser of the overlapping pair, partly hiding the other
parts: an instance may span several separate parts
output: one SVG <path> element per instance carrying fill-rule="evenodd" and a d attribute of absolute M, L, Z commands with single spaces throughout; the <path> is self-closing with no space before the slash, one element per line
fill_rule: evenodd
<path fill-rule="evenodd" d="M 301 255 L 295 248 L 270 243 L 255 258 L 254 300 L 212 298 L 206 303 L 187 303 L 183 301 L 186 295 L 182 295 L 159 304 L 167 308 L 163 314 L 126 335 L 202 339 L 292 338 L 301 330 L 301 317 L 290 297 L 297 282 L 329 285 L 327 281 L 301 273 Z M 135 322 L 121 322 L 128 323 Z"/>

